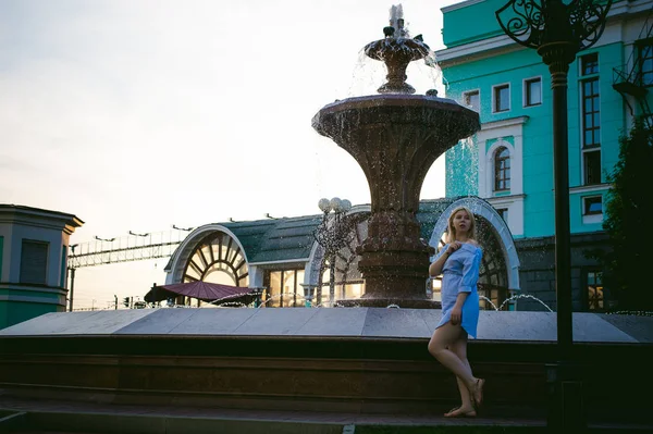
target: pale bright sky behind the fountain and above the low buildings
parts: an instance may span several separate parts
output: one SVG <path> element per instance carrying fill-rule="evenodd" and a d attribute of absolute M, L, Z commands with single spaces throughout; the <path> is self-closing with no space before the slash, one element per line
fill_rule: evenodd
<path fill-rule="evenodd" d="M 441 8 L 401 2 L 435 51 Z M 71 244 L 369 203 L 356 161 L 311 127 L 374 94 L 379 0 L 0 0 L 0 203 L 75 214 Z M 424 94 L 441 72 L 414 62 Z M 444 158 L 420 197 L 444 196 Z M 167 259 L 77 270 L 75 308 L 163 284 Z"/>

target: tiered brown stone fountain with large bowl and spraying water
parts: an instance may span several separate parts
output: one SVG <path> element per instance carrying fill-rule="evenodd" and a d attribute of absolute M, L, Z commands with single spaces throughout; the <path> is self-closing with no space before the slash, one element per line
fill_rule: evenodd
<path fill-rule="evenodd" d="M 430 49 L 421 36 L 409 37 L 401 7 L 393 7 L 390 22 L 385 37 L 365 47 L 387 69 L 379 95 L 326 104 L 312 126 L 354 157 L 370 187 L 369 234 L 357 250 L 366 294 L 355 302 L 430 308 L 436 306 L 426 298 L 433 249 L 419 236 L 419 194 L 433 162 L 479 131 L 480 121 L 477 112 L 434 91 L 412 95 L 406 67 L 426 59 Z"/>

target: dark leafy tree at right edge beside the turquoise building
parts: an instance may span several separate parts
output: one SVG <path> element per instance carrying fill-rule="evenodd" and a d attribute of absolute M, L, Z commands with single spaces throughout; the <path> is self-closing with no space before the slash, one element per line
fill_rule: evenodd
<path fill-rule="evenodd" d="M 619 310 L 653 310 L 653 131 L 637 119 L 619 138 L 619 161 L 607 181 L 603 228 L 609 251 L 602 259 L 604 283 Z"/>

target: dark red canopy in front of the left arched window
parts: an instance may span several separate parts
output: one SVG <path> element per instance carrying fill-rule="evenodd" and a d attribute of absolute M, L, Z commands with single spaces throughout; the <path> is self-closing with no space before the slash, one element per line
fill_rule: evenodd
<path fill-rule="evenodd" d="M 198 281 L 155 286 L 145 295 L 145 301 L 162 301 L 176 296 L 197 298 L 202 301 L 215 301 L 225 298 L 238 298 L 251 292 L 251 288 Z"/>

